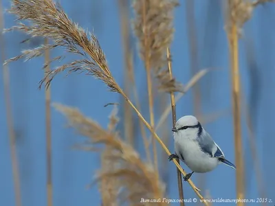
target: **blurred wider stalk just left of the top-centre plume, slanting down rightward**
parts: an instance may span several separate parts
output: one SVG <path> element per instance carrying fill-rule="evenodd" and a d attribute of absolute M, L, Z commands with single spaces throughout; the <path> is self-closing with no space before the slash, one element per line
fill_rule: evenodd
<path fill-rule="evenodd" d="M 130 45 L 130 32 L 129 32 L 129 23 L 128 19 L 130 18 L 129 9 L 127 7 L 127 0 L 118 0 L 118 5 L 120 8 L 120 20 L 121 20 L 121 31 L 122 31 L 122 41 L 124 45 L 124 59 L 125 59 L 125 68 L 126 68 L 126 78 L 128 78 L 128 82 L 131 84 L 133 89 L 133 96 L 135 99 L 135 104 L 137 105 L 137 109 L 140 111 L 140 100 L 137 93 L 137 86 L 135 84 L 135 78 L 133 73 L 133 52 L 131 52 Z M 128 105 L 128 104 L 127 104 Z M 146 137 L 146 131 L 144 128 L 144 124 L 140 119 L 138 119 L 140 124 L 140 133 L 142 135 L 142 140 L 144 143 L 144 148 L 146 152 L 146 158 L 148 161 L 151 161 L 151 154 L 149 151 L 149 142 Z"/>

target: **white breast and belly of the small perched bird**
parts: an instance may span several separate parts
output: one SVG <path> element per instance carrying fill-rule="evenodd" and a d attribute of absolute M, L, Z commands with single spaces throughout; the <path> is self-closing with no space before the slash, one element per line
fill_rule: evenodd
<path fill-rule="evenodd" d="M 212 158 L 200 150 L 197 141 L 179 138 L 179 135 L 175 135 L 174 139 L 175 152 L 177 155 L 182 154 L 184 163 L 190 170 L 198 173 L 209 172 L 219 164 L 217 158 Z M 181 161 L 183 160 L 181 159 Z"/>

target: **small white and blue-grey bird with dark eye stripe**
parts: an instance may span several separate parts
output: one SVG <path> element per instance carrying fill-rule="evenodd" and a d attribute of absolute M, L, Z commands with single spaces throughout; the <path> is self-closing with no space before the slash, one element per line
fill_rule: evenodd
<path fill-rule="evenodd" d="M 188 181 L 194 172 L 204 173 L 214 170 L 219 163 L 236 169 L 234 164 L 225 159 L 221 148 L 203 129 L 196 117 L 192 115 L 181 117 L 172 131 L 174 132 L 175 154 L 170 155 L 168 160 L 179 158 L 192 170 L 184 176 L 184 181 Z"/>

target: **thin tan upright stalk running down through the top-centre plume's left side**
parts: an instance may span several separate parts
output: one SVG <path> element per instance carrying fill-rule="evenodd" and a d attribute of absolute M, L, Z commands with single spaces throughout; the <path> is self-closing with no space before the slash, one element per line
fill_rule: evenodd
<path fill-rule="evenodd" d="M 142 1 L 142 16 L 143 16 L 143 25 L 146 25 L 146 0 Z M 144 29 L 144 36 L 148 36 L 146 32 L 146 27 Z M 148 89 L 148 104 L 149 104 L 149 114 L 150 114 L 150 124 L 152 128 L 155 127 L 155 118 L 154 118 L 154 111 L 153 111 L 153 89 L 152 89 L 152 78 L 151 78 L 151 65 L 150 65 L 150 58 L 148 54 L 148 43 L 147 43 L 147 38 L 144 38 L 144 45 L 146 47 L 146 54 L 145 54 L 145 69 L 146 69 L 146 77 L 147 77 L 147 89 Z M 157 172 L 156 175 L 158 176 L 158 166 L 157 166 L 157 146 L 155 144 L 155 139 L 152 139 L 152 144 L 153 144 L 153 157 L 154 157 L 154 164 L 155 164 L 155 171 Z"/>

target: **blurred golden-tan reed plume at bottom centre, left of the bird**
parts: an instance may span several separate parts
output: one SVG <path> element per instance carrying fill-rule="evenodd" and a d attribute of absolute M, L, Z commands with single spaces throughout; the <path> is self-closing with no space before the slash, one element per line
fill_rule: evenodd
<path fill-rule="evenodd" d="M 76 108 L 61 104 L 54 104 L 54 107 L 67 117 L 69 126 L 89 138 L 91 146 L 95 144 L 106 146 L 102 153 L 102 168 L 96 175 L 104 198 L 102 204 L 106 205 L 111 201 L 122 205 L 126 201 L 132 205 L 166 205 L 166 203 L 140 203 L 142 198 L 164 198 L 165 186 L 162 181 L 156 179 L 153 165 L 142 161 L 138 153 L 129 144 L 125 144 L 118 132 L 115 132 L 115 125 L 118 122 L 117 111 L 113 111 L 109 117 L 108 129 L 104 129 Z"/>

